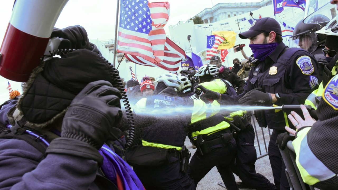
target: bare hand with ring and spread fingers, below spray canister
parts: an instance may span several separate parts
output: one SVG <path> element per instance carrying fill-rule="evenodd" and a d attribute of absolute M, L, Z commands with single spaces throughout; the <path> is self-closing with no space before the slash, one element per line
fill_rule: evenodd
<path fill-rule="evenodd" d="M 301 111 L 303 112 L 304 118 L 305 120 L 303 120 L 296 112 L 292 111 L 291 114 L 288 115 L 288 118 L 290 119 L 290 121 L 292 122 L 293 126 L 295 126 L 297 128 L 297 130 L 299 130 L 302 127 L 306 127 L 306 126 L 312 126 L 313 123 L 316 122 L 315 119 L 313 119 L 310 116 L 309 111 L 306 109 L 305 105 L 300 105 Z M 293 134 L 296 135 L 296 131 L 293 130 L 290 127 L 285 127 L 285 129 Z"/>

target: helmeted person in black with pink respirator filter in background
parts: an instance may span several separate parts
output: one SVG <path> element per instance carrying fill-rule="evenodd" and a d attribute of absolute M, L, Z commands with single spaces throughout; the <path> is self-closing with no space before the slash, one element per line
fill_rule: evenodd
<path fill-rule="evenodd" d="M 223 78 L 227 81 L 229 81 L 235 89 L 237 89 L 237 94 L 241 94 L 243 92 L 243 88 L 245 86 L 245 82 L 237 76 L 237 72 L 233 72 L 227 67 L 224 67 L 221 64 L 221 58 L 217 55 L 214 55 L 210 59 L 211 65 L 216 65 L 219 68 L 219 78 Z"/>

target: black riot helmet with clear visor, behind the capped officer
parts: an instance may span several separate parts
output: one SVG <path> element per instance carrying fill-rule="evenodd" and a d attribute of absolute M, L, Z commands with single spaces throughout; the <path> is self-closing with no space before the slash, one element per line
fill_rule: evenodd
<path fill-rule="evenodd" d="M 305 24 L 302 20 L 297 23 L 290 37 L 300 48 L 312 53 L 317 49 L 318 45 L 325 42 L 325 36 L 317 34 L 316 31 L 325 27 L 330 19 L 324 15 L 314 15 L 311 22 Z"/>

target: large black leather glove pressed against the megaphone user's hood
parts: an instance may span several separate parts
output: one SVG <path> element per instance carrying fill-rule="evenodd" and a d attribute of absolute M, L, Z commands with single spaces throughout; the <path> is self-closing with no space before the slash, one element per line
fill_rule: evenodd
<path fill-rule="evenodd" d="M 50 143 L 46 153 L 84 157 L 101 163 L 97 150 L 122 117 L 120 98 L 120 91 L 108 81 L 89 83 L 71 102 L 63 119 L 61 137 Z"/>

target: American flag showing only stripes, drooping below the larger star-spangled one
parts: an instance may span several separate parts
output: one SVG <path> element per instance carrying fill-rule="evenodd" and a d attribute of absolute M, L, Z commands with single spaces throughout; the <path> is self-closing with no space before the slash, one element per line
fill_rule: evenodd
<path fill-rule="evenodd" d="M 177 46 L 173 41 L 167 38 L 164 44 L 164 60 L 160 63 L 152 63 L 140 56 L 128 55 L 125 54 L 125 57 L 136 64 L 146 65 L 151 67 L 158 67 L 165 69 L 171 73 L 176 73 L 180 67 L 180 62 L 185 58 L 185 52 L 179 46 Z"/>

